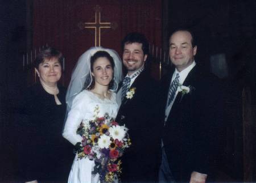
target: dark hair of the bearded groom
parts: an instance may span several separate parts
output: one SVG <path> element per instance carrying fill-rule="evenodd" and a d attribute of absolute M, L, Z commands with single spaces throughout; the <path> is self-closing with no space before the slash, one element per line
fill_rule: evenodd
<path fill-rule="evenodd" d="M 148 54 L 149 48 L 148 48 L 148 41 L 146 37 L 139 32 L 131 32 L 128 35 L 125 36 L 125 38 L 122 40 L 122 50 L 125 48 L 125 44 L 132 44 L 134 42 L 138 42 L 142 44 L 142 50 L 144 54 Z"/>

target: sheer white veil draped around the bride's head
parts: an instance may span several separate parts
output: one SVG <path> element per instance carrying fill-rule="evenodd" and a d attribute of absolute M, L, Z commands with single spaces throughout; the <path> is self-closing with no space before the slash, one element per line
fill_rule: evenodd
<path fill-rule="evenodd" d="M 73 69 L 71 81 L 69 83 L 66 95 L 67 112 L 65 116 L 65 121 L 67 120 L 67 115 L 69 110 L 71 110 L 73 99 L 75 98 L 75 96 L 82 90 L 87 89 L 92 83 L 92 75 L 90 71 L 90 58 L 94 55 L 94 53 L 100 50 L 108 52 L 110 56 L 112 56 L 112 58 L 114 59 L 114 84 L 112 88 L 109 88 L 109 90 L 117 91 L 118 83 L 121 82 L 123 78 L 122 61 L 121 58 L 118 56 L 118 53 L 115 52 L 115 50 L 113 49 L 106 49 L 102 47 L 90 48 L 79 57 L 76 66 Z"/>

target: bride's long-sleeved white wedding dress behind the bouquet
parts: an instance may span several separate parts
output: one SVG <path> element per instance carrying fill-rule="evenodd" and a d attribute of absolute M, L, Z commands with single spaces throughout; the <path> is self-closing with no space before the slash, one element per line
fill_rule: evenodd
<path fill-rule="evenodd" d="M 63 137 L 68 139 L 73 145 L 82 141 L 82 137 L 76 134 L 81 121 L 88 121 L 95 119 L 95 109 L 99 108 L 97 117 L 103 117 L 108 113 L 110 117 L 117 116 L 118 104 L 116 102 L 116 95 L 112 92 L 111 98 L 100 99 L 93 92 L 84 90 L 79 93 L 73 100 L 72 108 L 68 113 L 68 118 L 65 123 Z M 100 182 L 99 175 L 93 176 L 92 170 L 94 168 L 94 161 L 88 158 L 77 159 L 77 154 L 73 161 L 71 172 L 69 173 L 68 182 L 70 183 L 87 183 Z"/>

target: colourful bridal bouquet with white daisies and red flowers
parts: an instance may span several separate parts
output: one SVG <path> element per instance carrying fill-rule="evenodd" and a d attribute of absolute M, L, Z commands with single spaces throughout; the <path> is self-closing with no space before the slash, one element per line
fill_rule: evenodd
<path fill-rule="evenodd" d="M 97 109 L 96 109 L 97 110 Z M 82 121 L 77 134 L 82 136 L 78 158 L 94 160 L 92 175 L 100 175 L 101 182 L 113 182 L 121 174 L 121 160 L 125 148 L 131 145 L 125 126 L 119 126 L 108 113 L 91 121 Z"/>

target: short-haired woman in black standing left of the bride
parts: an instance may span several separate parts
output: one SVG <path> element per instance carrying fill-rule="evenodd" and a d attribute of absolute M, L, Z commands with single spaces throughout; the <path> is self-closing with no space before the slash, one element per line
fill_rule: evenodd
<path fill-rule="evenodd" d="M 39 82 L 28 88 L 24 100 L 22 168 L 27 182 L 62 182 L 72 163 L 72 147 L 61 135 L 66 109 L 66 90 L 58 83 L 62 58 L 58 50 L 46 48 L 35 59 Z"/>

